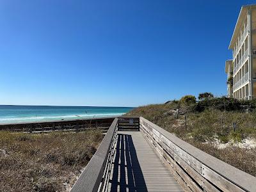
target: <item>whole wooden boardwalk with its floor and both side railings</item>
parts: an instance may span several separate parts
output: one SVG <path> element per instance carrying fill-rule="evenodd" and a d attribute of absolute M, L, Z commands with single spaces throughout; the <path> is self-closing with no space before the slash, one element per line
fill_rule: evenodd
<path fill-rule="evenodd" d="M 115 118 L 71 191 L 244 192 L 255 183 L 143 117 Z"/>

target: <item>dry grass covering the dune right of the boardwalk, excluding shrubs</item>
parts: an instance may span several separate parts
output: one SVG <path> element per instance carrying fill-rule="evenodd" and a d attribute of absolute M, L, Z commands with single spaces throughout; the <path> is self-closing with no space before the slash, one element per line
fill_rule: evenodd
<path fill-rule="evenodd" d="M 188 106 L 182 106 L 181 111 L 186 111 L 187 117 L 185 127 L 184 115 L 176 119 L 172 113 L 173 109 L 177 109 L 177 104 L 149 105 L 136 108 L 125 116 L 143 116 L 191 145 L 256 177 L 256 148 L 218 149 L 210 144 L 216 139 L 227 143 L 231 140 L 241 142 L 244 138 L 256 138 L 256 111 L 242 113 L 209 109 L 194 113 L 188 110 Z M 233 127 L 234 122 L 236 131 Z"/>

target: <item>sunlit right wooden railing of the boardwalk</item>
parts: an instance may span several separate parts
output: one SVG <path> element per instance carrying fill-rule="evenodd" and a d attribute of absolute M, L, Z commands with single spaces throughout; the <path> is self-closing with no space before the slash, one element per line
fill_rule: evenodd
<path fill-rule="evenodd" d="M 140 128 L 185 191 L 256 191 L 256 178 L 252 175 L 193 147 L 143 117 Z"/>

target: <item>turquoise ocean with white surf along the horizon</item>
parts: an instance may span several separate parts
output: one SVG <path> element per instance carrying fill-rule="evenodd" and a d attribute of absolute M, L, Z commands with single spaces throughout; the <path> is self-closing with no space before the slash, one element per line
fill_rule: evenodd
<path fill-rule="evenodd" d="M 127 107 L 0 105 L 0 124 L 120 116 L 132 109 Z"/>

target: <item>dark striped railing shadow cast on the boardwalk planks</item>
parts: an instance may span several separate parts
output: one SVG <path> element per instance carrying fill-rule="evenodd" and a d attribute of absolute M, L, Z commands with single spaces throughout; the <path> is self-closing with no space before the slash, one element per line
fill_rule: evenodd
<path fill-rule="evenodd" d="M 118 179 L 119 178 L 119 179 Z M 111 191 L 147 191 L 136 149 L 129 134 L 118 134 Z"/>

